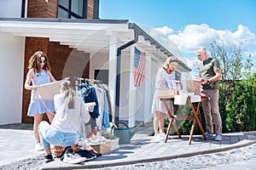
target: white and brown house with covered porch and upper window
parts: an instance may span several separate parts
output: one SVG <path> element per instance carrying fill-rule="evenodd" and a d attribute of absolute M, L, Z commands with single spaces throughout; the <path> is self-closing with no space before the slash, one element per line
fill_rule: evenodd
<path fill-rule="evenodd" d="M 0 2 L 0 124 L 32 123 L 24 88 L 28 59 L 48 55 L 56 80 L 74 77 L 108 84 L 112 121 L 150 122 L 157 70 L 172 55 L 129 20 L 99 19 L 99 0 L 9 0 Z M 143 82 L 134 86 L 134 48 L 146 54 Z M 177 79 L 189 72 L 179 61 Z"/>

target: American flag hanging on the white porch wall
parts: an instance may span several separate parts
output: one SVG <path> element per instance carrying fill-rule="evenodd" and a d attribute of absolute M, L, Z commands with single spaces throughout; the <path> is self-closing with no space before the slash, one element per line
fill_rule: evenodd
<path fill-rule="evenodd" d="M 133 80 L 135 87 L 140 87 L 141 82 L 143 82 L 144 69 L 145 53 L 141 52 L 137 48 L 134 48 Z"/>

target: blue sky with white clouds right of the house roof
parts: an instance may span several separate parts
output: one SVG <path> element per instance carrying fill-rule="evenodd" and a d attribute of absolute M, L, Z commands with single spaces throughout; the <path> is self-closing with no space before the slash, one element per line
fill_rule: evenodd
<path fill-rule="evenodd" d="M 241 44 L 243 55 L 251 54 L 256 63 L 255 0 L 100 0 L 100 19 L 151 28 L 148 33 L 181 53 L 190 67 L 197 62 L 196 48 L 222 40 L 227 46 Z"/>

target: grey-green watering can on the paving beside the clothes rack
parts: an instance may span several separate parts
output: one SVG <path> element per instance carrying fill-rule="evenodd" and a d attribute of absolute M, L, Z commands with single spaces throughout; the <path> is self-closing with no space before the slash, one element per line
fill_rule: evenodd
<path fill-rule="evenodd" d="M 113 135 L 119 138 L 119 144 L 130 144 L 131 138 L 136 133 L 139 126 L 133 127 L 133 129 L 131 130 L 131 128 L 128 127 L 128 125 L 125 124 L 125 122 L 117 122 L 115 124 L 117 125 L 117 128 L 112 127 Z M 123 126 L 119 127 L 119 124 Z"/>

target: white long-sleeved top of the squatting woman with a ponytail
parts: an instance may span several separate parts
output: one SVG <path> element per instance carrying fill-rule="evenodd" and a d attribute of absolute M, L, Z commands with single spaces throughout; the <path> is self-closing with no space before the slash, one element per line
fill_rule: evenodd
<path fill-rule="evenodd" d="M 67 104 L 63 104 L 64 96 L 65 94 L 56 94 L 54 97 L 56 114 L 51 127 L 62 133 L 77 133 L 80 122 L 89 122 L 90 114 L 79 96 L 75 96 L 75 108 L 67 109 Z"/>

